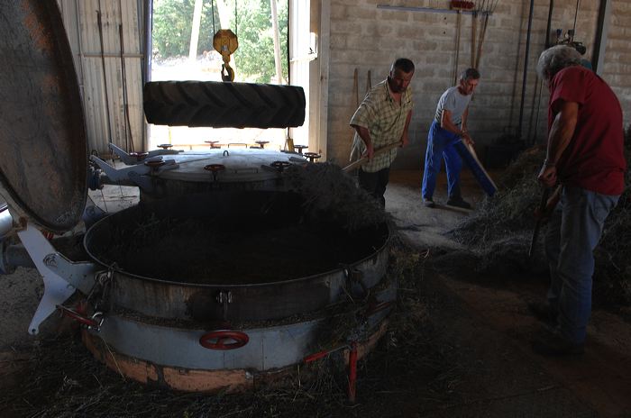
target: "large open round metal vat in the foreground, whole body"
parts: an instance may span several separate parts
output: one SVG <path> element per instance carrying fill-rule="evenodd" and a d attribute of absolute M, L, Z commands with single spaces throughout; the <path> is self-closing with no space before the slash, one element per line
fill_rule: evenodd
<path fill-rule="evenodd" d="M 105 218 L 85 237 L 105 268 L 88 349 L 142 382 L 247 387 L 339 350 L 323 337 L 327 308 L 351 300 L 345 314 L 361 321 L 345 332 L 365 352 L 396 298 L 389 226 L 348 231 L 328 219 L 296 193 L 263 191 L 178 196 Z"/>

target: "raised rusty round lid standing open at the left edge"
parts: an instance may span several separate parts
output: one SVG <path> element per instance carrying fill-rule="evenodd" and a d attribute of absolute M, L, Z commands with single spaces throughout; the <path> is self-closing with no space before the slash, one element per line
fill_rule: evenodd
<path fill-rule="evenodd" d="M 0 179 L 35 222 L 68 231 L 86 204 L 87 149 L 56 1 L 3 2 L 0 56 Z"/>

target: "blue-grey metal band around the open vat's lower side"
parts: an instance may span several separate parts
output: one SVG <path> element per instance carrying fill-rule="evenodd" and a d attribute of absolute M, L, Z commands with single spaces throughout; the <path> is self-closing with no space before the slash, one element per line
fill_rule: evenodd
<path fill-rule="evenodd" d="M 393 302 L 397 291 L 394 286 L 377 293 L 379 301 Z M 394 304 L 372 314 L 367 314 L 365 321 L 349 329 L 349 338 L 360 342 L 360 357 L 370 350 L 376 339 L 385 331 L 389 314 Z M 106 314 L 100 331 L 84 332 L 84 337 L 97 335 L 107 348 L 105 353 L 115 352 L 139 361 L 148 361 L 154 367 L 181 368 L 183 370 L 248 369 L 252 372 L 276 370 L 302 361 L 307 355 L 335 347 L 323 347 L 318 339 L 323 324 L 330 320 L 328 316 L 319 316 L 310 321 L 286 323 L 282 325 L 240 328 L 238 331 L 248 336 L 248 342 L 233 350 L 211 350 L 200 343 L 208 329 L 182 329 L 143 323 L 124 315 Z M 213 330 L 215 331 L 215 330 Z M 169 341 L 165 344 L 165 341 Z M 98 351 L 98 350 L 97 350 Z M 93 351 L 94 352 L 94 351 Z M 133 377 L 141 372 L 141 379 Z M 147 375 L 147 371 L 150 375 Z M 153 375 L 153 377 L 151 377 Z M 158 373 L 161 375 L 161 373 Z M 152 380 L 155 373 L 151 370 L 130 371 L 130 376 L 140 380 Z"/>

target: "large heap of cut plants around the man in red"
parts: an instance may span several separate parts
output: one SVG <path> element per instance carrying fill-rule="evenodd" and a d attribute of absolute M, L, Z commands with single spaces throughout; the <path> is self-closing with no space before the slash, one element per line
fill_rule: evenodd
<path fill-rule="evenodd" d="M 626 160 L 631 161 L 631 125 L 625 132 Z M 478 271 L 523 268 L 545 271 L 543 253 L 545 226 L 539 234 L 535 257 L 527 259 L 542 190 L 536 175 L 545 158 L 537 146 L 524 151 L 498 178 L 498 193 L 487 197 L 470 217 L 453 230 L 453 237 L 478 256 Z M 595 251 L 594 303 L 631 304 L 631 177 L 626 190 L 609 214 L 599 247 Z"/>

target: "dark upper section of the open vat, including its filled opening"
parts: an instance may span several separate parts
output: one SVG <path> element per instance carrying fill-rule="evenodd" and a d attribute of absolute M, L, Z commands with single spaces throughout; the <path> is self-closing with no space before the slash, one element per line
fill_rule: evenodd
<path fill-rule="evenodd" d="M 387 223 L 348 232 L 290 192 L 215 192 L 139 204 L 96 223 L 88 254 L 117 306 L 160 318 L 260 321 L 321 309 L 388 267 Z M 232 295 L 228 307 L 216 302 Z"/>

